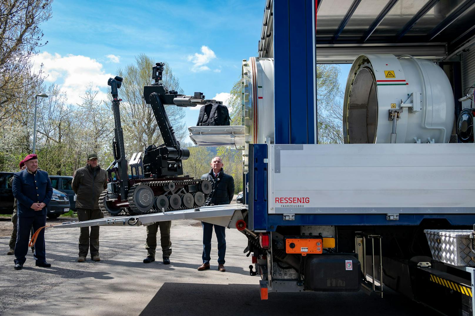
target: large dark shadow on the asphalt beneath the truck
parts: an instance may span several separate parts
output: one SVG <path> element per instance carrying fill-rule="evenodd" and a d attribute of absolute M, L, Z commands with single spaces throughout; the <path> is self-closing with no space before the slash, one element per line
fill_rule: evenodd
<path fill-rule="evenodd" d="M 177 302 L 178 297 L 181 297 L 179 304 L 170 304 Z M 361 303 L 366 308 L 352 308 Z M 164 283 L 140 315 L 157 315 L 158 311 L 161 315 L 194 316 L 428 315 L 426 307 L 392 291 L 387 292 L 384 299 L 360 291 L 269 293 L 268 300 L 261 300 L 257 279 L 256 285 Z"/>

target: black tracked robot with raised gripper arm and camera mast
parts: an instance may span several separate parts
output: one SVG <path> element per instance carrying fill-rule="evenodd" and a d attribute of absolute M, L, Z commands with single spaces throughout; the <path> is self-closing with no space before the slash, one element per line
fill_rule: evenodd
<path fill-rule="evenodd" d="M 207 203 L 212 194 L 212 185 L 208 180 L 194 179 L 183 175 L 182 160 L 190 157 L 187 148 L 180 147 L 175 132 L 165 112 L 164 105 L 181 107 L 198 104 L 216 103 L 205 100 L 200 92 L 194 96 L 178 94 L 168 90 L 160 81 L 164 63 L 156 63 L 152 69 L 154 83 L 143 87 L 143 98 L 153 110 L 163 138 L 163 144 L 149 145 L 142 153 L 134 153 L 128 162 L 125 157 L 123 132 L 120 118 L 118 89 L 123 78 L 109 78 L 114 113 L 114 162 L 107 168 L 107 189 L 99 197 L 101 211 L 108 215 L 134 215 L 155 213 L 158 211 L 176 211 L 192 209 Z"/>

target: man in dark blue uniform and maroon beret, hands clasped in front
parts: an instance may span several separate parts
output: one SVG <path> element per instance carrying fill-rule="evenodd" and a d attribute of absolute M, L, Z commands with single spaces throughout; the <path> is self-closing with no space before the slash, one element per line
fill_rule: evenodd
<path fill-rule="evenodd" d="M 28 253 L 31 226 L 38 230 L 46 225 L 46 206 L 51 201 L 53 187 L 48 173 L 38 169 L 38 157 L 29 154 L 22 160 L 26 169 L 13 175 L 13 196 L 18 201 L 18 233 L 15 244 L 15 270 L 21 270 Z M 35 244 L 34 258 L 38 267 L 49 268 L 46 262 L 45 230 L 41 230 Z"/>

